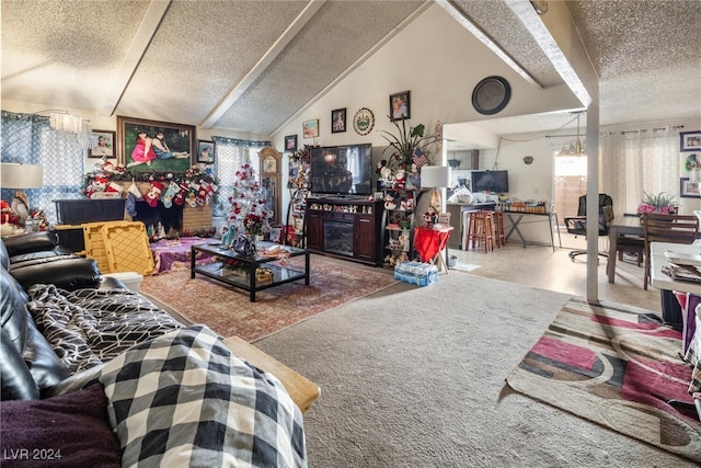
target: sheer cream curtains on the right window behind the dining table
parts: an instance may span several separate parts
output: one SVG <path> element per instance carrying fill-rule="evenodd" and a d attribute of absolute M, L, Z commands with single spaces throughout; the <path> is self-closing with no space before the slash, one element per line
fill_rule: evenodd
<path fill-rule="evenodd" d="M 599 186 L 613 213 L 636 213 L 645 193 L 679 196 L 679 130 L 609 132 L 599 136 Z"/>

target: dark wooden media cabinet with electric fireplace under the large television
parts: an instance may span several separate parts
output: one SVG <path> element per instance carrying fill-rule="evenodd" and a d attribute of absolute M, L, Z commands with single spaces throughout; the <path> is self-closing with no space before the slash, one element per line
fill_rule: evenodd
<path fill-rule="evenodd" d="M 380 266 L 382 201 L 307 198 L 307 248 L 323 255 Z"/>

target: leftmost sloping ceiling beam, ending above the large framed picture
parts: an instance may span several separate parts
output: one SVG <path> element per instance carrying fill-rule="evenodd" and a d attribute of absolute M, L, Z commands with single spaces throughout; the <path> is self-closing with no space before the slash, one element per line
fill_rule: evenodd
<path fill-rule="evenodd" d="M 127 90 L 129 81 L 131 81 L 131 77 L 134 77 L 151 39 L 153 39 L 153 35 L 158 31 L 161 21 L 163 21 L 163 16 L 170 4 L 171 0 L 151 0 L 149 2 L 143 19 L 129 45 L 129 49 L 122 60 L 122 66 L 114 73 L 114 78 L 105 92 L 103 109 L 110 116 L 116 112 L 119 101 L 122 101 L 122 96 Z"/>

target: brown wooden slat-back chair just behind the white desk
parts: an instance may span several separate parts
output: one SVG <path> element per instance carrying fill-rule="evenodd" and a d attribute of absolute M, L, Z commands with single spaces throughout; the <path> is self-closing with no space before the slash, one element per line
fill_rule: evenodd
<path fill-rule="evenodd" d="M 645 232 L 645 273 L 643 288 L 650 281 L 651 242 L 693 243 L 699 233 L 699 218 L 696 215 L 657 215 L 645 213 L 642 217 Z"/>

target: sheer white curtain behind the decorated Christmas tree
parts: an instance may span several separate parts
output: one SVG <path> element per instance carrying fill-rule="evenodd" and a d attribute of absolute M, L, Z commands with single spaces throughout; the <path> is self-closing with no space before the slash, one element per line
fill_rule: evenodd
<path fill-rule="evenodd" d="M 212 137 L 215 141 L 215 164 L 214 173 L 219 180 L 219 203 L 212 206 L 214 216 L 229 217 L 229 208 L 231 203 L 229 197 L 233 193 L 233 182 L 235 173 L 245 162 L 249 162 L 258 174 L 261 167 L 258 153 L 261 149 L 271 146 L 271 141 L 242 140 L 226 137 Z M 260 176 L 260 174 L 258 174 Z"/>

